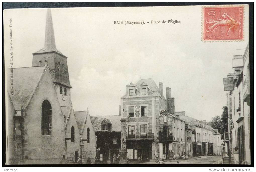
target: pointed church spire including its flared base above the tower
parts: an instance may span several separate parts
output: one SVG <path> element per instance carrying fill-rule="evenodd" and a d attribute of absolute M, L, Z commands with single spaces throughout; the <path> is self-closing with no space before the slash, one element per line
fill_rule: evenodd
<path fill-rule="evenodd" d="M 46 52 L 57 52 L 57 53 L 63 55 L 56 48 L 54 28 L 53 28 L 52 17 L 51 17 L 51 9 L 49 9 L 49 8 L 47 9 L 47 15 L 46 15 L 45 46 L 44 46 L 44 48 L 40 49 L 39 51 L 37 51 L 33 54 L 46 53 Z"/>

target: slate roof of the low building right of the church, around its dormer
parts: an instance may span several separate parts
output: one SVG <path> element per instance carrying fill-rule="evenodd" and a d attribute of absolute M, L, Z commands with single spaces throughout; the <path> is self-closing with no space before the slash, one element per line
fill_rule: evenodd
<path fill-rule="evenodd" d="M 101 131 L 101 122 L 104 119 L 111 121 L 109 131 L 121 131 L 121 118 L 122 115 L 109 115 L 109 116 L 90 116 L 91 123 L 94 131 Z"/>

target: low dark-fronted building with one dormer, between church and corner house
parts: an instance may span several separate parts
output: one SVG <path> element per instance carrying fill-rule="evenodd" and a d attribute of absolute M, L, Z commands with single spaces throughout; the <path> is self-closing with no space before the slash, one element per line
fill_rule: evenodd
<path fill-rule="evenodd" d="M 91 116 L 91 122 L 97 136 L 97 148 L 100 148 L 100 163 L 113 161 L 114 154 L 121 150 L 121 115 Z"/>

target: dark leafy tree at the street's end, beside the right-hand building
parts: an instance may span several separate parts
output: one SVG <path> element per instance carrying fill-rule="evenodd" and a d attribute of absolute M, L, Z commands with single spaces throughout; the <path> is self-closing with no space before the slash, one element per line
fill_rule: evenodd
<path fill-rule="evenodd" d="M 224 140 L 224 132 L 228 131 L 228 107 L 222 107 L 223 112 L 221 116 L 215 116 L 211 118 L 210 125 L 212 128 L 218 129 L 221 134 L 221 139 Z"/>

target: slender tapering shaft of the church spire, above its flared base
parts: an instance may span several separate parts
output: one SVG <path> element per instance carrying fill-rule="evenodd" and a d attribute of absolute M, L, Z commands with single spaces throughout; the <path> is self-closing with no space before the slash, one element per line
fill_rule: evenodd
<path fill-rule="evenodd" d="M 46 15 L 45 47 L 44 48 L 56 49 L 54 29 L 53 29 L 51 9 L 50 8 L 47 9 L 47 15 Z"/>

